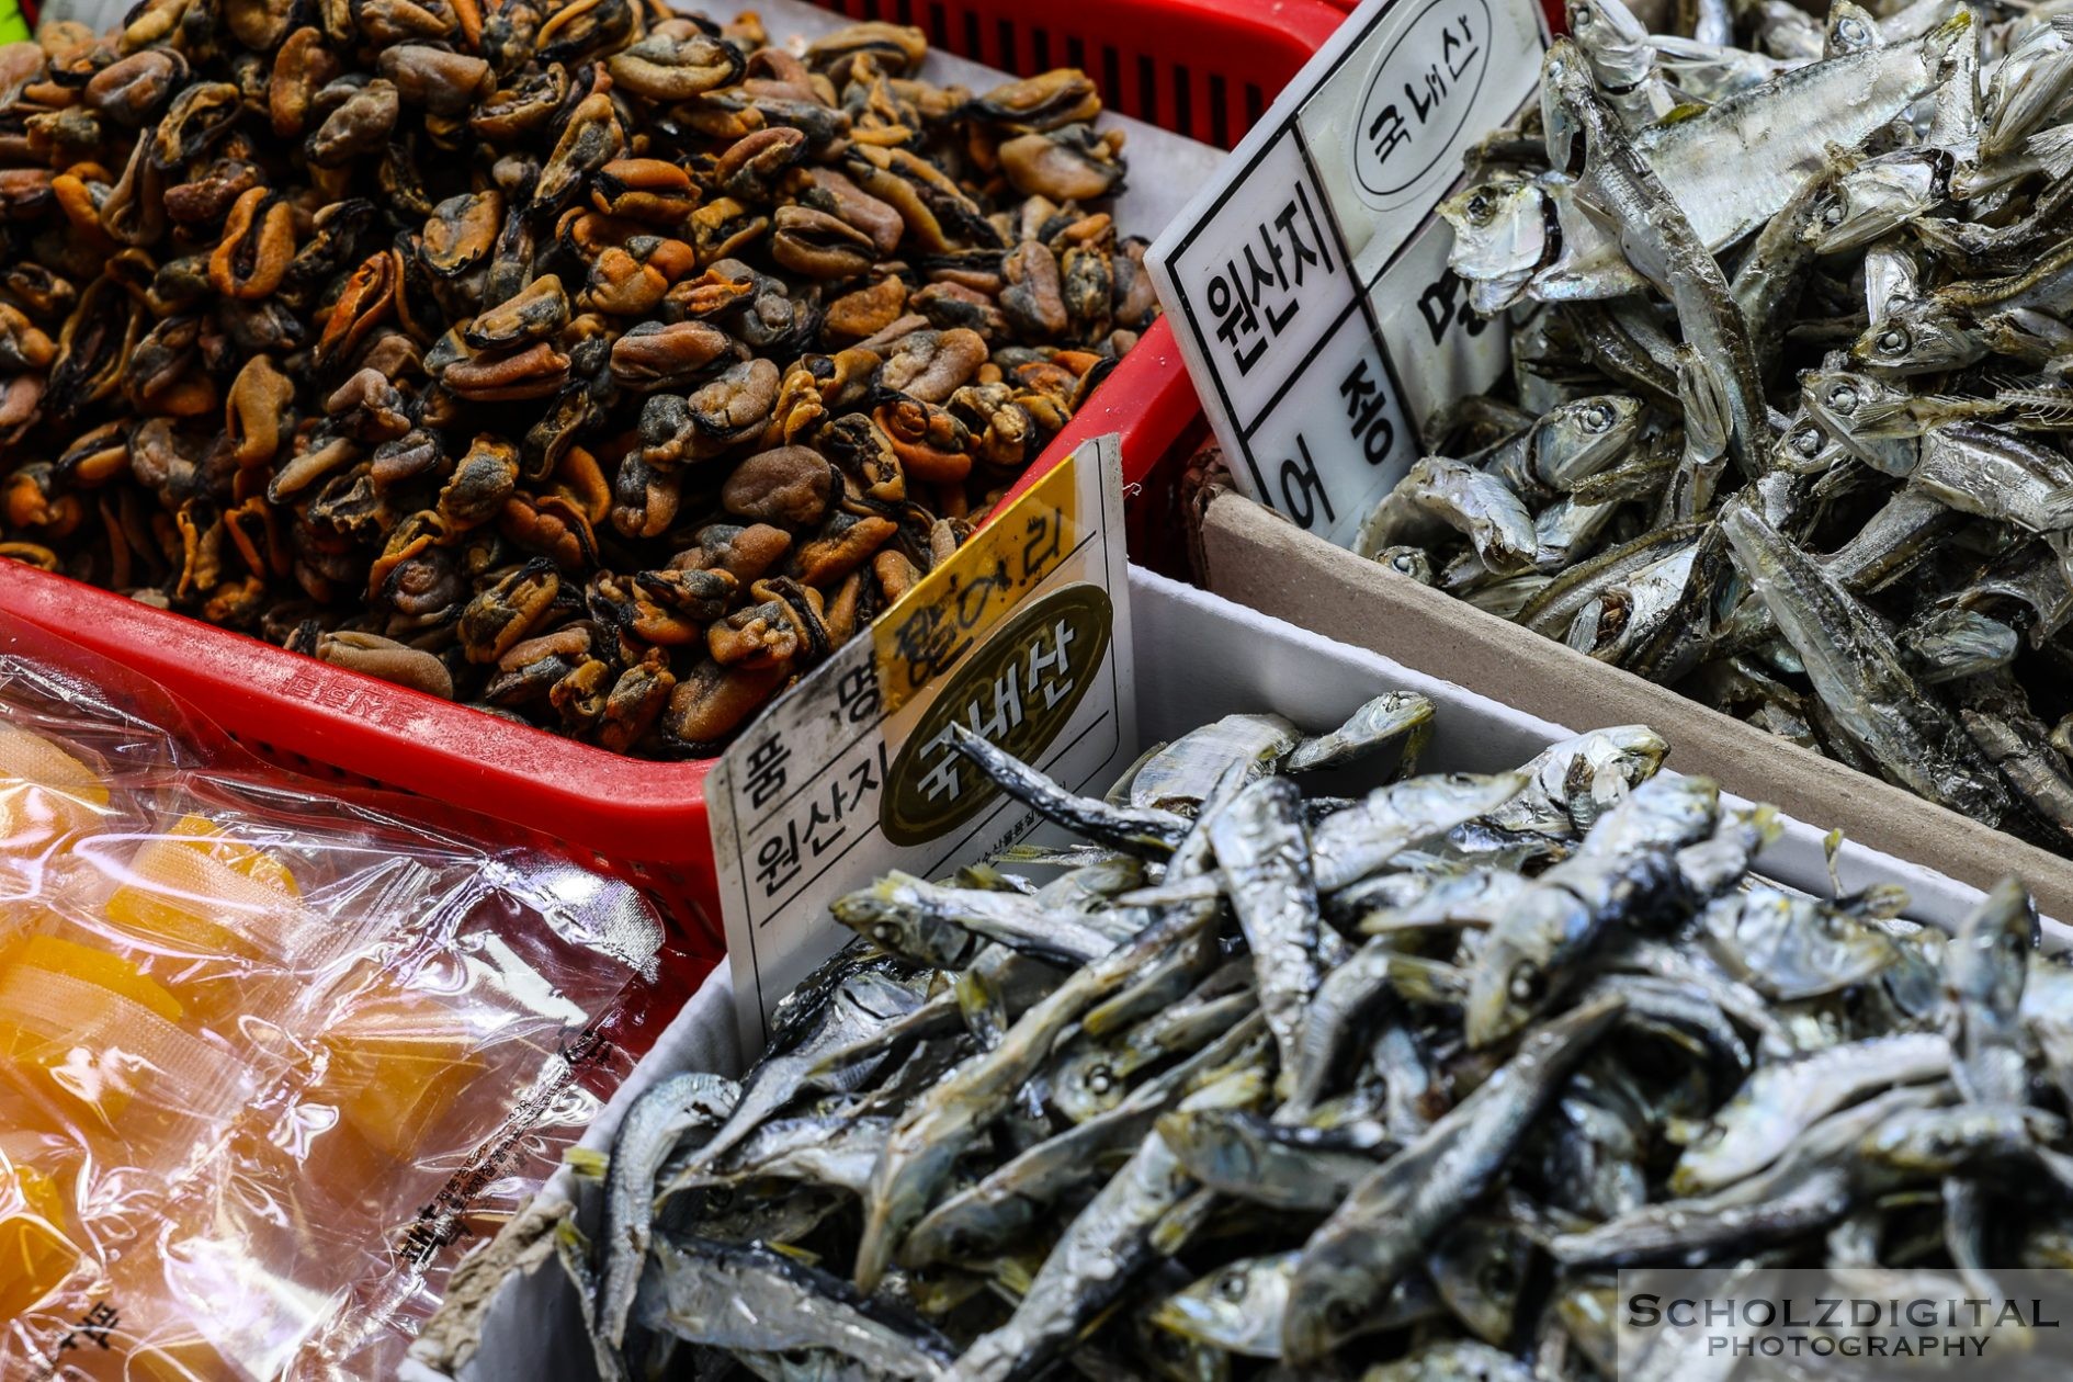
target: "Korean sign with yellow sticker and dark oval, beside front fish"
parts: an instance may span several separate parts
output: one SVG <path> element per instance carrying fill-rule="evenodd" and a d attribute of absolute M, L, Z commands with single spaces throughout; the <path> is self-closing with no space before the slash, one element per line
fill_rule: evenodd
<path fill-rule="evenodd" d="M 827 910 L 891 868 L 935 876 L 1039 825 L 949 746 L 958 721 L 1074 791 L 1136 752 L 1117 437 L 929 572 L 779 696 L 705 779 L 742 1040 L 850 932 Z"/>

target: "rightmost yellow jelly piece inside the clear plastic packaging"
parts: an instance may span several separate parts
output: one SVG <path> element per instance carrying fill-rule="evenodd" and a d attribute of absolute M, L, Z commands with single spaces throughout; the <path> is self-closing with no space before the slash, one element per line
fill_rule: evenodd
<path fill-rule="evenodd" d="M 460 1092 L 487 1067 L 454 1013 L 425 995 L 390 995 L 359 1007 L 323 1036 L 332 1053 L 328 1098 L 361 1138 L 408 1160 Z"/>

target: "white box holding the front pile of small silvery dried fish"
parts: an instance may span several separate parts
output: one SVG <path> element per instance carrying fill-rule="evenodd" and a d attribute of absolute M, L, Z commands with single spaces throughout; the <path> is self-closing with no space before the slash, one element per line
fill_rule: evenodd
<path fill-rule="evenodd" d="M 1302 537 L 1289 524 L 1273 522 L 1277 528 Z M 1345 555 L 1316 539 L 1306 541 L 1327 553 Z M 1312 584 L 1312 588 L 1323 586 Z M 1352 601 L 1341 599 L 1341 607 L 1350 605 Z M 1461 607 L 1447 601 L 1447 609 Z M 1298 725 L 1323 729 L 1339 723 L 1358 704 L 1385 690 L 1416 690 L 1439 707 L 1437 733 L 1420 758 L 1420 771 L 1488 773 L 1511 769 L 1546 744 L 1571 733 L 1426 671 L 1416 671 L 1370 651 L 1329 642 L 1281 620 L 1136 568 L 1130 572 L 1130 615 L 1136 634 L 1138 731 L 1144 744 L 1173 740 L 1233 711 L 1277 711 Z M 1420 659 L 1432 661 L 1426 657 L 1430 651 L 1418 646 Z M 1592 707 L 1584 704 L 1582 709 Z M 1594 713 L 1578 715 L 1575 723 L 1596 727 L 1634 719 L 1648 717 L 1600 702 Z M 1656 719 L 1656 727 L 1677 744 L 1677 727 Z M 1733 721 L 1727 723 L 1733 725 Z M 1739 727 L 1748 729 L 1748 725 Z M 1752 733 L 1766 738 L 1754 729 Z M 1675 748 L 1671 762 L 1689 769 L 1692 758 L 1696 754 Z M 1374 785 L 1360 781 L 1358 765 L 1339 773 L 1341 777 L 1325 789 L 1354 791 Z M 1760 872 L 1826 895 L 1830 883 L 1822 835 L 1824 829 L 1818 825 L 1787 820 L 1783 839 L 1758 862 Z M 1932 870 L 1882 856 L 1864 847 L 1862 841 L 1845 843 L 1837 868 L 1847 889 L 1874 881 L 1907 887 L 1913 895 L 1907 914 L 1928 922 L 1953 924 L 1978 901 L 1978 891 Z M 734 1075 L 740 1073 L 748 1055 L 740 1050 L 736 1040 L 732 982 L 726 970 L 719 970 L 620 1088 L 583 1138 L 583 1146 L 609 1148 L 612 1131 L 626 1106 L 655 1079 L 684 1069 Z M 537 1237 L 543 1225 L 551 1225 L 560 1206 L 570 1204 L 574 1204 L 578 1227 L 595 1237 L 595 1193 L 580 1196 L 568 1171 L 558 1173 L 547 1183 L 533 1210 L 518 1225 L 531 1225 Z M 495 1251 L 524 1260 L 527 1254 L 518 1251 L 518 1239 L 524 1237 L 522 1227 L 506 1231 Z M 485 1291 L 489 1303 L 479 1353 L 452 1351 L 439 1336 L 435 1322 L 419 1347 L 421 1359 L 406 1367 L 404 1378 L 413 1382 L 506 1382 L 510 1378 L 589 1382 L 595 1372 L 589 1345 L 583 1338 L 576 1299 L 560 1266 L 545 1251 L 543 1237 L 537 1239 L 531 1260 L 533 1270 L 504 1276 Z M 466 1266 L 456 1274 L 456 1283 L 464 1276 Z M 448 1374 L 442 1367 L 454 1372 Z"/>

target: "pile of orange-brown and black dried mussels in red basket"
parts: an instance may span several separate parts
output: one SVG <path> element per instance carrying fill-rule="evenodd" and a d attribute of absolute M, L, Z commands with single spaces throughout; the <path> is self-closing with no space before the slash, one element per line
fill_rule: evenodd
<path fill-rule="evenodd" d="M 0 553 L 709 752 L 1157 307 L 1078 70 L 643 0 L 143 0 L 0 46 Z"/>

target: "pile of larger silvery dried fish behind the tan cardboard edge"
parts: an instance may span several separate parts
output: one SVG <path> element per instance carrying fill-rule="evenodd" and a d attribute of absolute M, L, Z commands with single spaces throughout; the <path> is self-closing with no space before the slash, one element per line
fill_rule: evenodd
<path fill-rule="evenodd" d="M 1362 551 L 2069 852 L 2073 19 L 1573 0 L 1443 205 L 1515 404 Z M 1536 307 L 1538 305 L 1538 307 Z M 1459 458 L 1459 460 L 1455 460 Z"/>

